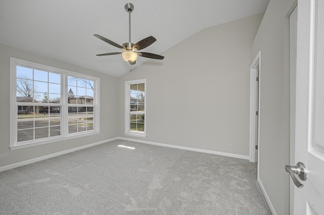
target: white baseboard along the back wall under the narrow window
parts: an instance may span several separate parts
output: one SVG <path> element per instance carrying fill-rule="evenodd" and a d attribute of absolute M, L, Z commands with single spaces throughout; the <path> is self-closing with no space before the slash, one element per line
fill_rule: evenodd
<path fill-rule="evenodd" d="M 191 147 L 186 147 L 186 146 L 170 145 L 170 144 L 165 144 L 165 143 L 150 142 L 150 141 L 145 141 L 145 140 L 125 138 L 125 137 L 118 137 L 118 139 L 132 141 L 132 142 L 145 143 L 145 144 L 150 144 L 150 145 L 164 146 L 164 147 L 169 147 L 169 148 L 184 149 L 184 150 L 188 150 L 188 151 L 197 151 L 197 152 L 204 152 L 204 153 L 209 153 L 209 154 L 223 155 L 223 156 L 228 156 L 228 157 L 236 157 L 236 158 L 241 158 L 241 159 L 250 159 L 250 156 L 241 155 L 241 154 L 232 154 L 232 153 L 212 151 L 212 150 L 206 150 L 206 149 L 200 149 L 200 148 L 191 148 Z"/>

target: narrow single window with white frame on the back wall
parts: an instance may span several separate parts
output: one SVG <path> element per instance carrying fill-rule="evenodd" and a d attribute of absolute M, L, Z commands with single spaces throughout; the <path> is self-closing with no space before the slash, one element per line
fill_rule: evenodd
<path fill-rule="evenodd" d="M 125 85 L 125 133 L 146 137 L 146 79 Z"/>

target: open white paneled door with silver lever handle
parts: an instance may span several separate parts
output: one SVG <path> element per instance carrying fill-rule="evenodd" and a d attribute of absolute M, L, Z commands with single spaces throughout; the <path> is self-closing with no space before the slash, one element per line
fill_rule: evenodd
<path fill-rule="evenodd" d="M 324 1 L 298 1 L 294 214 L 324 214 Z M 294 175 L 294 174 L 293 174 Z M 296 175 L 295 175 L 296 176 Z"/>

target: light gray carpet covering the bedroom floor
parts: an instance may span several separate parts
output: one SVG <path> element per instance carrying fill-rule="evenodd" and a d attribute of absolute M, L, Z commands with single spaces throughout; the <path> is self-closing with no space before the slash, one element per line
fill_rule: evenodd
<path fill-rule="evenodd" d="M 116 140 L 1 172 L 0 214 L 271 214 L 256 178 L 248 160 Z"/>

